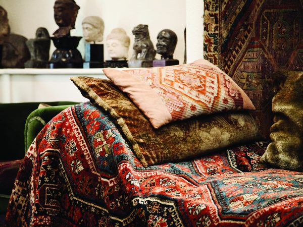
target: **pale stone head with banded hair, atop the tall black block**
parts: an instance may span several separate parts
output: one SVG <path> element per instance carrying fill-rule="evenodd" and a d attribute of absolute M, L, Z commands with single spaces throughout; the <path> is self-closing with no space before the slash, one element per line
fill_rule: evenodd
<path fill-rule="evenodd" d="M 104 21 L 97 16 L 89 16 L 82 21 L 83 37 L 89 43 L 101 43 L 103 41 Z"/>

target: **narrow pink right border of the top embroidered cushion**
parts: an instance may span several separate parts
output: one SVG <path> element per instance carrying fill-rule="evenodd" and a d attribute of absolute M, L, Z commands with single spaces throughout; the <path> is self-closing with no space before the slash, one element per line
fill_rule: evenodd
<path fill-rule="evenodd" d="M 228 76 L 219 67 L 215 66 L 214 64 L 210 63 L 209 61 L 207 61 L 205 59 L 198 59 L 198 60 L 194 61 L 193 64 L 195 64 L 195 65 L 206 65 L 206 66 L 209 66 L 209 67 L 213 67 L 213 68 L 215 68 L 217 70 L 217 72 L 223 73 L 224 75 Z M 230 78 L 230 76 L 228 76 L 228 77 Z M 252 101 L 247 96 L 247 94 L 242 90 L 242 88 L 240 88 L 239 85 L 237 85 L 237 83 L 234 82 L 233 79 L 230 78 L 230 81 L 232 82 L 232 84 L 238 89 L 238 91 L 242 95 L 242 98 L 243 98 L 243 109 L 255 110 L 256 107 L 254 106 L 254 104 L 252 104 Z"/>

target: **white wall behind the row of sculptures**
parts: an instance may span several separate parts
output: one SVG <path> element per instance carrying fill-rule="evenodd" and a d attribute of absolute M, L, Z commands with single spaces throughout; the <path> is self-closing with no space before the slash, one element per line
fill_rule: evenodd
<path fill-rule="evenodd" d="M 76 29 L 71 35 L 82 36 L 81 22 L 86 16 L 99 16 L 105 21 L 104 37 L 113 28 L 122 27 L 130 37 L 129 56 L 132 54 L 134 36 L 131 31 L 138 24 L 147 24 L 151 41 L 156 49 L 157 35 L 165 28 L 176 32 L 178 43 L 174 58 L 183 63 L 184 28 L 186 25 L 185 0 L 75 0 L 80 6 L 76 20 Z M 190 2 L 192 0 L 187 0 Z M 202 0 L 195 0 L 200 1 Z M 0 0 L 0 6 L 8 12 L 11 32 L 21 34 L 26 38 L 34 38 L 38 27 L 47 28 L 52 34 L 58 29 L 54 20 L 55 0 Z M 201 17 L 202 15 L 200 15 Z M 51 53 L 55 47 L 51 46 Z M 78 49 L 84 58 L 84 40 L 80 41 Z M 200 50 L 201 53 L 203 50 Z M 203 54 L 201 54 L 203 55 Z M 160 58 L 157 54 L 156 58 Z M 105 60 L 109 60 L 105 49 Z"/>

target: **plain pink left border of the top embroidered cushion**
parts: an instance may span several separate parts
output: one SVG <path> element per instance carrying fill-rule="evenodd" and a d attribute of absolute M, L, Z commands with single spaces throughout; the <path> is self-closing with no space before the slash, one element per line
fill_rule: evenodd
<path fill-rule="evenodd" d="M 161 97 L 144 81 L 116 69 L 105 68 L 103 72 L 130 97 L 155 129 L 172 121 L 172 116 Z"/>

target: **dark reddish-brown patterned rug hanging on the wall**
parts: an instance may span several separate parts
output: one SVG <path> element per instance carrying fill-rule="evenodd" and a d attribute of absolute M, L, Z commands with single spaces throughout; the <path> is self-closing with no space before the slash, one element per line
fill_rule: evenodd
<path fill-rule="evenodd" d="M 205 0 L 204 23 L 204 58 L 246 92 L 268 136 L 272 74 L 303 70 L 303 1 Z"/>

